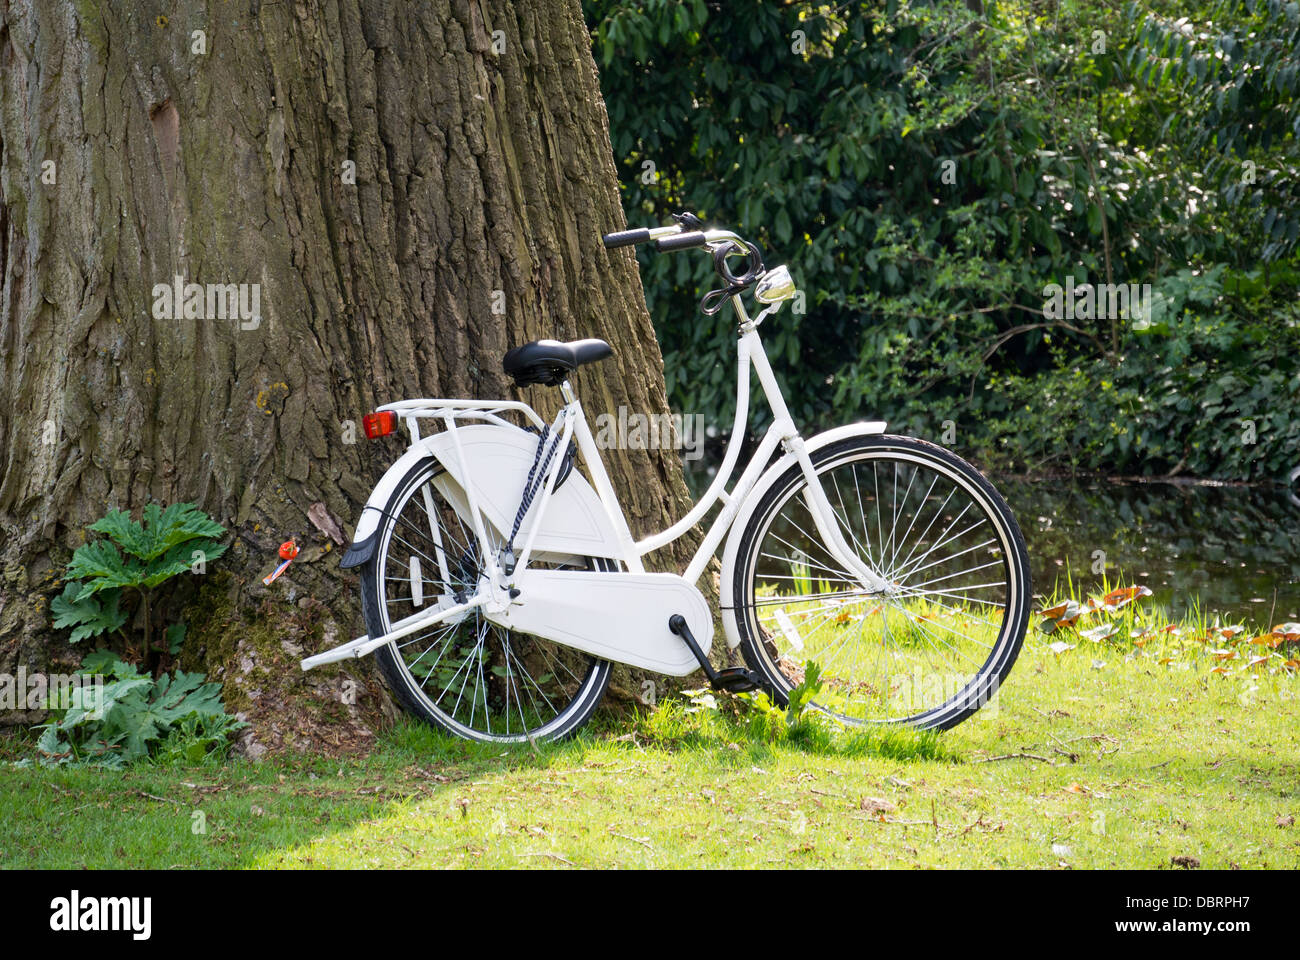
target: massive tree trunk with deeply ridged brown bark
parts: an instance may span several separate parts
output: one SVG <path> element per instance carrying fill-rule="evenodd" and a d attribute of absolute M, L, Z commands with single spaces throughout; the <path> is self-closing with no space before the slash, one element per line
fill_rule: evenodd
<path fill-rule="evenodd" d="M 577 0 L 0 0 L 0 671 L 56 649 L 87 524 L 195 501 L 233 546 L 168 609 L 182 662 L 264 747 L 370 736 L 368 662 L 296 667 L 364 631 L 326 531 L 400 446 L 360 415 L 512 395 L 502 354 L 541 337 L 614 345 L 575 379 L 589 416 L 667 410 L 636 261 L 599 239 L 623 213 L 589 43 Z M 159 319 L 177 278 L 250 285 L 259 316 Z M 685 510 L 676 454 L 607 466 L 634 533 Z"/>

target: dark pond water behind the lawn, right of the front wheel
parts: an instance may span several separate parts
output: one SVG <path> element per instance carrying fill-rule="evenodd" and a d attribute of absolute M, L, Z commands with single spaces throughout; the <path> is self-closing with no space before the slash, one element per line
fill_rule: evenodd
<path fill-rule="evenodd" d="M 715 462 L 688 463 L 699 496 Z M 1280 488 L 1216 484 L 1018 480 L 994 477 L 1020 523 L 1034 591 L 1053 592 L 1066 575 L 1100 587 L 1149 587 L 1147 601 L 1180 615 L 1199 602 L 1225 623 L 1300 620 L 1300 505 Z M 1270 620 L 1271 610 L 1271 620 Z M 1269 623 L 1265 623 L 1265 622 Z"/>

